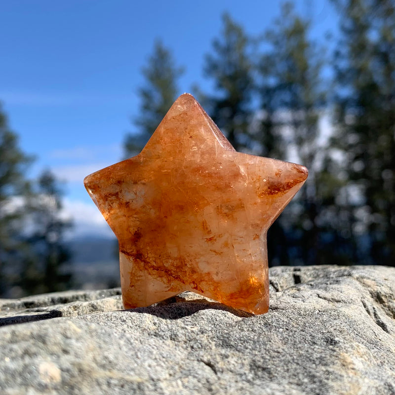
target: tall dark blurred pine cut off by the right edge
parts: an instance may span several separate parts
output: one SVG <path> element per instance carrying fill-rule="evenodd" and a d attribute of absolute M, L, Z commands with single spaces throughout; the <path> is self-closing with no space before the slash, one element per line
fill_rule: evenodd
<path fill-rule="evenodd" d="M 336 0 L 337 139 L 359 259 L 395 265 L 395 4 Z"/>

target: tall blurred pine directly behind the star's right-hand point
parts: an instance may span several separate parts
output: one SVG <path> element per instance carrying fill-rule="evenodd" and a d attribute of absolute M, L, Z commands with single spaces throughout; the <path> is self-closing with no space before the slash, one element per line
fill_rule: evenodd
<path fill-rule="evenodd" d="M 309 169 L 309 178 L 299 199 L 295 199 L 281 217 L 288 230 L 288 240 L 281 240 L 280 234 L 276 237 L 277 246 L 281 246 L 277 252 L 284 253 L 286 244 L 289 248 L 293 243 L 291 258 L 303 264 L 325 262 L 323 254 L 318 254 L 323 248 L 323 237 L 317 177 L 322 168 L 318 137 L 319 118 L 325 103 L 321 83 L 324 51 L 309 38 L 310 24 L 294 12 L 291 3 L 282 4 L 280 17 L 264 35 L 267 49 L 258 64 L 263 153 L 283 159 L 288 155 Z M 291 157 L 290 149 L 294 151 Z M 284 259 L 283 255 L 281 263 Z"/>

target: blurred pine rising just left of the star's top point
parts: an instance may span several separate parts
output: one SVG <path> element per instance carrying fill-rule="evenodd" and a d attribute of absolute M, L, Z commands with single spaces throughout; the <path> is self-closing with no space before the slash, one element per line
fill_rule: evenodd
<path fill-rule="evenodd" d="M 140 115 L 134 120 L 138 131 L 125 138 L 127 157 L 141 151 L 177 98 L 180 93 L 177 82 L 183 68 L 175 66 L 170 50 L 158 40 L 142 74 L 145 81 L 138 92 Z"/>

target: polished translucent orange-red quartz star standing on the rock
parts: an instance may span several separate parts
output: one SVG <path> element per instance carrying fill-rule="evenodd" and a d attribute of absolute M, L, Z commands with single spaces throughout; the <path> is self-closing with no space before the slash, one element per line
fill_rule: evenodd
<path fill-rule="evenodd" d="M 84 180 L 118 238 L 125 308 L 188 290 L 266 313 L 267 230 L 306 178 L 304 166 L 236 152 L 181 95 L 139 155 Z"/>

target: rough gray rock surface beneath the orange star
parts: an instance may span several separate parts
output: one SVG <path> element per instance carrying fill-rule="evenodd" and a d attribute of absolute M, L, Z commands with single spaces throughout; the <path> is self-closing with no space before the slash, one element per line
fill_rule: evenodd
<path fill-rule="evenodd" d="M 395 394 L 395 268 L 270 275 L 261 316 L 192 293 L 0 300 L 0 394 Z"/>

